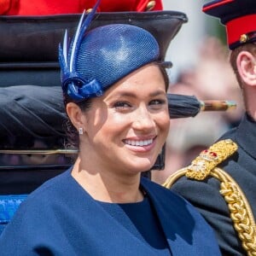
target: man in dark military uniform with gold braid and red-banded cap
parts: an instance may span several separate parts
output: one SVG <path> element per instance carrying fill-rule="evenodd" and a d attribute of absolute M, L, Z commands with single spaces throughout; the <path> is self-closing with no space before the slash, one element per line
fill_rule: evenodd
<path fill-rule="evenodd" d="M 256 255 L 256 1 L 218 0 L 203 11 L 226 26 L 246 113 L 236 129 L 164 185 L 198 207 L 223 255 Z"/>

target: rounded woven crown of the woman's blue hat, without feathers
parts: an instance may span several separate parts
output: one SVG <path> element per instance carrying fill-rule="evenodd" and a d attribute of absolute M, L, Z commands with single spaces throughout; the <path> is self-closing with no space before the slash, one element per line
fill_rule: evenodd
<path fill-rule="evenodd" d="M 126 74 L 159 57 L 157 41 L 143 28 L 127 24 L 97 27 L 86 34 L 76 58 L 76 71 L 84 80 L 83 96 L 102 95 Z"/>

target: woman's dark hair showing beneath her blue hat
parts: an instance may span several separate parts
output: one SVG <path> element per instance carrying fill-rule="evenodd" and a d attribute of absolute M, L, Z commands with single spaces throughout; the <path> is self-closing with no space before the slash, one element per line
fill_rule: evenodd
<path fill-rule="evenodd" d="M 169 87 L 169 77 L 168 74 L 166 73 L 166 67 L 164 67 L 164 65 L 162 65 L 160 62 L 155 62 L 155 64 L 157 65 L 157 67 L 160 68 L 160 73 L 162 73 L 164 81 L 165 81 L 165 85 L 166 85 L 166 91 L 168 90 Z M 111 88 L 111 86 L 109 87 Z M 66 109 L 67 103 L 68 102 L 74 102 L 73 99 L 67 95 L 64 95 L 64 106 Z M 86 112 L 87 110 L 90 109 L 91 103 L 92 103 L 92 98 L 84 100 L 82 102 L 75 102 L 79 108 L 83 111 Z M 70 121 L 70 119 L 67 118 L 67 122 L 66 122 L 66 134 L 67 134 L 67 142 L 66 142 L 66 148 L 79 148 L 79 132 L 77 131 L 77 129 L 73 126 L 72 122 Z"/>

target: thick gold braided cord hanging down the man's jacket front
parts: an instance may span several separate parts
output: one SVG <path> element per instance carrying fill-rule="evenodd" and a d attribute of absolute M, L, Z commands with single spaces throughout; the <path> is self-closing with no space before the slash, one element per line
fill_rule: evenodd
<path fill-rule="evenodd" d="M 230 218 L 248 256 L 256 256 L 256 225 L 253 211 L 236 181 L 216 167 L 210 173 L 220 181 L 220 194 L 230 209 Z"/>

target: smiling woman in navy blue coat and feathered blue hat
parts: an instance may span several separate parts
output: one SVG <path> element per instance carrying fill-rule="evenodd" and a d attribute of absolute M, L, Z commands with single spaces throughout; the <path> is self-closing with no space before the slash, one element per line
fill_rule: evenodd
<path fill-rule="evenodd" d="M 137 26 L 87 32 L 95 9 L 60 47 L 79 156 L 21 204 L 0 238 L 1 255 L 219 255 L 195 208 L 141 177 L 169 130 L 159 44 Z"/>

